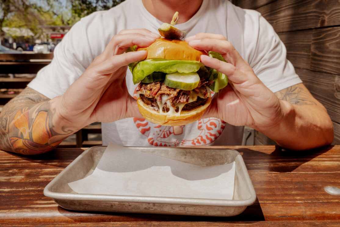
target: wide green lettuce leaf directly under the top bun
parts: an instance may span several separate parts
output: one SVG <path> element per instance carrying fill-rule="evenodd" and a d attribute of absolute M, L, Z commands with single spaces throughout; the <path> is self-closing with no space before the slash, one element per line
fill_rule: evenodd
<path fill-rule="evenodd" d="M 184 60 L 167 60 L 163 58 L 149 58 L 138 62 L 135 64 L 131 70 L 132 71 L 132 80 L 134 84 L 139 83 L 143 80 L 147 75 L 153 72 L 164 72 L 164 73 L 173 73 L 173 72 L 197 72 L 200 68 L 203 68 L 204 65 L 201 62 L 197 61 L 184 61 Z"/>

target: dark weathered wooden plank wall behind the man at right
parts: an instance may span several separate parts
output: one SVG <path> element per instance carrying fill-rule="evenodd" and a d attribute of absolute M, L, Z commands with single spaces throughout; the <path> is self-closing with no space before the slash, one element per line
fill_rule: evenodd
<path fill-rule="evenodd" d="M 287 58 L 334 125 L 333 144 L 340 144 L 340 1 L 232 0 L 262 14 L 287 48 Z M 255 145 L 275 144 L 255 133 Z"/>

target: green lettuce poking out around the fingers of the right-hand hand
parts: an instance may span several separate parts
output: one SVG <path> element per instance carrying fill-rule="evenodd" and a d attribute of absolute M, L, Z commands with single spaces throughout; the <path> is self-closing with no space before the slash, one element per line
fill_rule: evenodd
<path fill-rule="evenodd" d="M 222 55 L 218 52 L 209 51 L 209 56 L 225 62 Z M 209 80 L 214 80 L 214 83 L 212 83 L 209 87 L 212 91 L 218 92 L 219 89 L 222 89 L 225 86 L 227 86 L 228 77 L 225 74 L 218 72 L 216 69 L 213 68 L 208 68 L 208 70 L 211 73 Z"/>

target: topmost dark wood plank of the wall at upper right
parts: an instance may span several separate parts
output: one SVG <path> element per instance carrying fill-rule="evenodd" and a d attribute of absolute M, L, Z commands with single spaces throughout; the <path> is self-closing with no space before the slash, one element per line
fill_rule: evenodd
<path fill-rule="evenodd" d="M 340 24 L 338 0 L 274 1 L 257 8 L 276 32 L 335 26 Z"/>

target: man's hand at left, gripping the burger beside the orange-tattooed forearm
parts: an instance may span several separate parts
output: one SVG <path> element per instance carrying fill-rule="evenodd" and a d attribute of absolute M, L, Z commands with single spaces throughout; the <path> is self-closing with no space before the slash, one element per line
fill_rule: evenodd
<path fill-rule="evenodd" d="M 86 71 L 61 96 L 51 100 L 61 121 L 82 128 L 92 122 L 141 117 L 125 83 L 127 65 L 144 59 L 146 51 L 124 53 L 130 46 L 147 47 L 159 35 L 145 29 L 115 35 Z"/>

